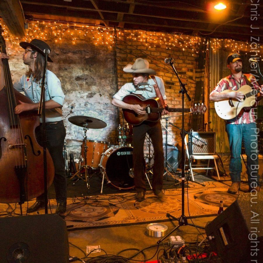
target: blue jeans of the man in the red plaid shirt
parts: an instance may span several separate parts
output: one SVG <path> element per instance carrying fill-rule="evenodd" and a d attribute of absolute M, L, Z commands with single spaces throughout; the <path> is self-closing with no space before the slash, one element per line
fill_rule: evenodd
<path fill-rule="evenodd" d="M 259 182 L 258 176 L 258 143 L 259 136 L 257 125 L 249 124 L 226 124 L 226 133 L 229 139 L 231 159 L 229 165 L 230 177 L 232 182 L 240 182 L 242 172 L 241 164 L 241 144 L 243 141 L 245 153 L 247 155 L 247 174 L 248 184 L 255 188 L 255 183 Z"/>

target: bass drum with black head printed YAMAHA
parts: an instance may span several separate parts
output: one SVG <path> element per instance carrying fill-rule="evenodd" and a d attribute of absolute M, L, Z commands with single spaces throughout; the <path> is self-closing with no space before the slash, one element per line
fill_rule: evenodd
<path fill-rule="evenodd" d="M 132 147 L 113 146 L 102 154 L 100 169 L 118 189 L 134 188 Z"/>

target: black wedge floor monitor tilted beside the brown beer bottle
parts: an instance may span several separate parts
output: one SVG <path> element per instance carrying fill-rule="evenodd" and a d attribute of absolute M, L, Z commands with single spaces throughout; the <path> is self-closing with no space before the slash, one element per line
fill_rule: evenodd
<path fill-rule="evenodd" d="M 253 203 L 254 202 L 254 203 Z M 255 203 L 256 202 L 256 203 Z M 223 262 L 262 262 L 263 194 L 242 193 L 205 226 L 212 250 Z"/>

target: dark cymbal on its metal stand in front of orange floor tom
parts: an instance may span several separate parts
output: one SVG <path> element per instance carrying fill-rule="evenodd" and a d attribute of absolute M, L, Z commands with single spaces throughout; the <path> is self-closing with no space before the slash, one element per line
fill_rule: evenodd
<path fill-rule="evenodd" d="M 72 175 L 72 177 L 70 177 L 70 179 L 73 179 L 75 176 L 77 176 L 79 179 L 82 179 L 83 181 L 86 182 L 87 184 L 87 188 L 89 189 L 90 185 L 89 185 L 89 174 L 88 174 L 88 168 L 90 167 L 89 165 L 87 165 L 87 130 L 88 129 L 101 129 L 101 128 L 105 128 L 107 126 L 107 124 L 105 122 L 103 122 L 102 120 L 93 118 L 93 117 L 88 117 L 88 116 L 72 116 L 68 118 L 69 122 L 71 122 L 72 124 L 75 124 L 79 127 L 83 127 L 84 130 L 84 165 L 79 166 L 79 170 Z M 83 179 L 81 177 L 81 170 L 84 169 L 85 170 L 85 179 Z"/>

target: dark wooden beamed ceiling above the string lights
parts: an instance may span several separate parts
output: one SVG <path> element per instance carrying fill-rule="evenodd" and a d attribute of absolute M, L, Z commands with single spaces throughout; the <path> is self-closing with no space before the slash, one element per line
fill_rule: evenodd
<path fill-rule="evenodd" d="M 263 7 L 251 5 L 257 4 L 257 0 L 222 2 L 227 8 L 216 11 L 216 1 L 208 0 L 20 0 L 26 20 L 57 20 L 244 41 L 250 41 L 251 36 L 262 39 Z M 1 12 L 0 15 L 5 20 Z M 251 32 L 251 25 L 259 29 Z"/>

